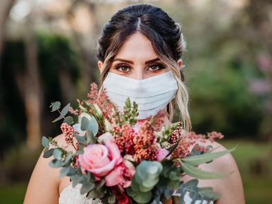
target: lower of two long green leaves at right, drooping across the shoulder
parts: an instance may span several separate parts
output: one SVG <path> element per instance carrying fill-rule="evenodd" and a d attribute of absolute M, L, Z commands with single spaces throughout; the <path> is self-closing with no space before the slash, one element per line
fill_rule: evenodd
<path fill-rule="evenodd" d="M 219 173 L 219 172 L 207 172 L 205 170 L 200 170 L 190 163 L 182 163 L 181 168 L 186 174 L 197 179 L 218 179 L 225 177 L 230 173 Z"/>

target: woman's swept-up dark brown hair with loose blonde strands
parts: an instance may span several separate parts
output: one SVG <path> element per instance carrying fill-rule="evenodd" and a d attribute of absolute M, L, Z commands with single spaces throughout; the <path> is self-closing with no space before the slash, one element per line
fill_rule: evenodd
<path fill-rule="evenodd" d="M 178 90 L 175 98 L 168 104 L 169 119 L 172 122 L 174 102 L 177 102 L 183 128 L 190 131 L 192 127 L 188 112 L 188 89 L 183 83 L 183 73 L 177 65 L 177 60 L 181 58 L 186 46 L 182 27 L 155 5 L 150 3 L 128 5 L 118 10 L 112 16 L 111 21 L 104 25 L 102 36 L 98 39 L 97 54 L 98 59 L 103 63 L 100 74 L 100 93 L 117 51 L 136 32 L 140 32 L 151 41 L 156 54 L 174 73 Z"/>

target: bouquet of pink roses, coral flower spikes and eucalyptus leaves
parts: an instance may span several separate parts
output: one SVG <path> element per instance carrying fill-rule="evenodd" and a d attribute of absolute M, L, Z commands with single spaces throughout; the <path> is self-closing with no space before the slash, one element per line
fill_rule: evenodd
<path fill-rule="evenodd" d="M 60 177 L 68 176 L 73 187 L 81 184 L 80 194 L 102 203 L 159 203 L 179 194 L 180 203 L 190 192 L 196 200 L 214 201 L 219 194 L 212 188 L 199 188 L 197 179 L 214 179 L 228 173 L 207 172 L 198 168 L 231 150 L 213 152 L 212 146 L 196 144 L 196 139 L 223 138 L 221 133 L 197 135 L 186 132 L 181 122 L 162 126 L 163 116 L 138 121 L 137 104 L 127 98 L 120 111 L 111 103 L 103 89 L 91 84 L 87 100 L 78 100 L 78 109 L 53 102 L 52 111 L 60 114 L 60 126 L 72 151 L 60 147 L 52 137 L 43 137 L 43 157 L 54 157 L 49 166 L 60 169 Z M 68 115 L 68 113 L 70 113 Z M 190 146 L 194 148 L 190 149 Z M 195 179 L 184 183 L 188 174 Z"/>

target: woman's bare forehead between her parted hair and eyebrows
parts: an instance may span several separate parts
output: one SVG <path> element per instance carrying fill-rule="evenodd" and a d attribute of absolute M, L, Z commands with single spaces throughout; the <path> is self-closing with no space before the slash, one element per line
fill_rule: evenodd
<path fill-rule="evenodd" d="M 119 57 L 127 60 L 148 60 L 157 58 L 157 54 L 151 41 L 140 32 L 136 32 L 120 47 L 115 58 Z"/>

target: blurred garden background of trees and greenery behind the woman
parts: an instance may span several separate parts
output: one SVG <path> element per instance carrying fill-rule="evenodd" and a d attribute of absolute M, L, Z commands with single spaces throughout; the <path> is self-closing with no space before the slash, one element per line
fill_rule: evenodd
<path fill-rule="evenodd" d="M 43 150 L 60 133 L 51 102 L 76 105 L 98 83 L 102 27 L 131 3 L 157 5 L 183 25 L 193 131 L 219 131 L 247 203 L 272 203 L 272 1 L 1 0 L 0 198 L 23 203 Z M 176 115 L 176 120 L 178 115 Z"/>

